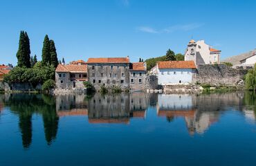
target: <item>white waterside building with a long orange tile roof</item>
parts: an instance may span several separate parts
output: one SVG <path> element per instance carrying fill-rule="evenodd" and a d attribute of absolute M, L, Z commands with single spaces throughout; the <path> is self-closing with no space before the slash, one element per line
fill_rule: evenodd
<path fill-rule="evenodd" d="M 152 73 L 158 76 L 158 84 L 189 84 L 196 68 L 193 61 L 158 62 Z"/>

